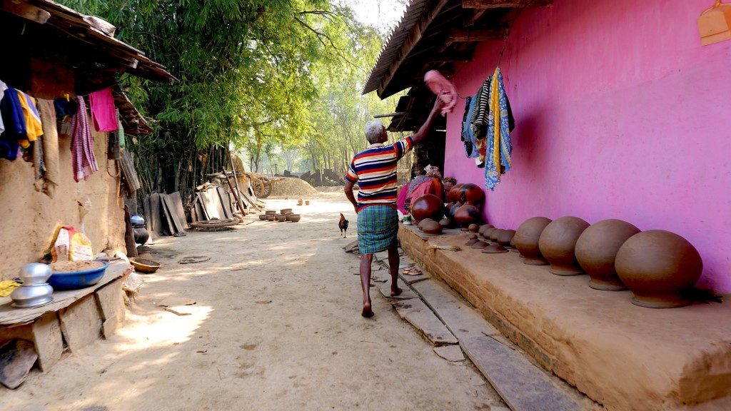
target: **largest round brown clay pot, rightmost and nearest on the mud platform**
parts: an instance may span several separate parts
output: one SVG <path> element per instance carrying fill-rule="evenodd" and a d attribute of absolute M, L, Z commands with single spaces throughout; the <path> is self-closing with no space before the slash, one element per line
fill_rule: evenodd
<path fill-rule="evenodd" d="M 690 303 L 681 293 L 698 281 L 703 261 L 680 235 L 649 230 L 632 235 L 619 247 L 614 267 L 635 295 L 633 304 L 672 308 Z"/>

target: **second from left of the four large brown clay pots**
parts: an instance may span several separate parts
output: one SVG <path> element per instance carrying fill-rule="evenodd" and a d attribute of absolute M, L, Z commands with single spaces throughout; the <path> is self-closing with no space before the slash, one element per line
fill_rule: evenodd
<path fill-rule="evenodd" d="M 584 274 L 576 260 L 576 241 L 589 223 L 578 217 L 561 217 L 545 227 L 538 241 L 541 254 L 550 263 L 549 271 L 557 276 Z"/>

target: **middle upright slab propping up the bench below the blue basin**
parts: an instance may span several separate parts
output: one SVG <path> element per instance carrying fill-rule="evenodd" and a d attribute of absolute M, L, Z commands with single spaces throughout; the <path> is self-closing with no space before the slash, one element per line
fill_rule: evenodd
<path fill-rule="evenodd" d="M 71 352 L 86 347 L 101 336 L 102 317 L 96 308 L 94 295 L 86 295 L 61 309 L 58 318 L 61 320 L 61 333 Z"/>

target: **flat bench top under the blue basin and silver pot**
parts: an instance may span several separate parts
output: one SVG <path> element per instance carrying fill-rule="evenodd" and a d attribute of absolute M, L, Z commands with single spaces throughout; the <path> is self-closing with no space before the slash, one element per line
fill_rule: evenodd
<path fill-rule="evenodd" d="M 17 309 L 11 305 L 12 299 L 10 297 L 2 297 L 0 298 L 0 328 L 9 325 L 30 323 L 47 312 L 56 312 L 59 309 L 66 308 L 74 301 L 77 301 L 85 295 L 94 293 L 94 291 L 103 287 L 105 284 L 129 274 L 131 271 L 132 265 L 124 263 L 124 261 L 110 263 L 104 276 L 96 284 L 91 287 L 82 288 L 81 290 L 54 291 L 53 302 L 45 306 Z"/>

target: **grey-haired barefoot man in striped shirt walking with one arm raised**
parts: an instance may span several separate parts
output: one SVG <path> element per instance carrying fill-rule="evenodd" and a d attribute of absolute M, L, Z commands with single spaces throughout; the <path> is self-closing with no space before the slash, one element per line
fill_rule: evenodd
<path fill-rule="evenodd" d="M 371 309 L 371 263 L 373 254 L 388 250 L 388 266 L 391 274 L 391 296 L 401 294 L 398 288 L 398 215 L 396 214 L 396 167 L 414 144 L 420 143 L 429 133 L 431 122 L 443 103 L 436 99 L 428 118 L 411 137 L 385 146 L 388 135 L 380 120 L 366 123 L 368 148 L 353 157 L 345 176 L 345 195 L 358 216 L 358 249 L 360 254 L 360 284 L 363 287 L 363 317 L 373 317 Z M 358 184 L 358 200 L 353 186 Z"/>

